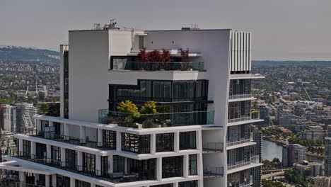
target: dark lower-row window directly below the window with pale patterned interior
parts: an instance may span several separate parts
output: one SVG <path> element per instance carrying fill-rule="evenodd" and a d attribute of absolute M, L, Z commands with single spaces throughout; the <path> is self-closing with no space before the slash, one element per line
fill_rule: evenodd
<path fill-rule="evenodd" d="M 156 179 L 156 159 L 137 160 L 127 159 L 129 174 L 138 174 L 139 181 Z"/>

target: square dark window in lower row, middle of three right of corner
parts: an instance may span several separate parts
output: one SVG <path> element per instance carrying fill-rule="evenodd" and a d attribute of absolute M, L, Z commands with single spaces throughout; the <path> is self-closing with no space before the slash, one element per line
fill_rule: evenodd
<path fill-rule="evenodd" d="M 162 178 L 182 176 L 182 156 L 162 158 Z"/>

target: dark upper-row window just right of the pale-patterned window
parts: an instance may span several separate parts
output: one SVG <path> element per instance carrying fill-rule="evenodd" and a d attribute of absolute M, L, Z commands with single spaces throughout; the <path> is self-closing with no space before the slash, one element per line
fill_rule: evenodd
<path fill-rule="evenodd" d="M 156 134 L 156 152 L 173 152 L 173 133 Z"/>

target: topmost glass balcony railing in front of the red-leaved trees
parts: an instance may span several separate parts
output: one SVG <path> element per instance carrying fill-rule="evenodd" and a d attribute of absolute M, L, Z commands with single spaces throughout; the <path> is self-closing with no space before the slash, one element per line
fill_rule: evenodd
<path fill-rule="evenodd" d="M 204 62 L 113 62 L 114 70 L 204 71 Z"/>

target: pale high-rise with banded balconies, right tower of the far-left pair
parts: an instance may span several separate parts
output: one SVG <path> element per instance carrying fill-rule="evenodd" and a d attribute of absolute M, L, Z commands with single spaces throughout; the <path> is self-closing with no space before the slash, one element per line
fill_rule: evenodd
<path fill-rule="evenodd" d="M 37 114 L 37 108 L 30 103 L 16 104 L 16 132 L 32 130 L 36 127 L 33 115 Z"/>

